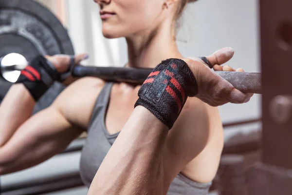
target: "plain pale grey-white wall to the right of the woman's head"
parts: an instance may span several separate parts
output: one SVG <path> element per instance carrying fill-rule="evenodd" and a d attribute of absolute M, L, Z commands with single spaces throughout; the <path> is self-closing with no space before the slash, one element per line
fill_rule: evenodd
<path fill-rule="evenodd" d="M 247 72 L 260 71 L 258 12 L 256 0 L 199 0 L 190 4 L 183 18 L 178 42 L 184 56 L 204 56 L 231 46 L 234 58 L 228 63 Z M 260 96 L 247 104 L 219 107 L 223 122 L 260 117 Z"/>

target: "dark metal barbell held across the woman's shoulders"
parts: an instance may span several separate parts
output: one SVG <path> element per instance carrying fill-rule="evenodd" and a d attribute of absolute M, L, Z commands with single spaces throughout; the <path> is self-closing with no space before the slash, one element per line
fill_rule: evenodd
<path fill-rule="evenodd" d="M 26 59 L 20 54 L 9 54 L 0 59 L 1 72 L 4 74 L 19 72 L 27 64 Z M 97 77 L 106 81 L 128 82 L 142 84 L 152 72 L 151 68 L 132 67 L 99 67 L 82 66 L 73 67 L 73 77 Z M 229 71 L 215 71 L 216 74 L 230 82 L 235 88 L 244 93 L 260 94 L 261 78 L 260 73 L 242 73 Z M 19 75 L 18 75 L 19 76 Z"/>

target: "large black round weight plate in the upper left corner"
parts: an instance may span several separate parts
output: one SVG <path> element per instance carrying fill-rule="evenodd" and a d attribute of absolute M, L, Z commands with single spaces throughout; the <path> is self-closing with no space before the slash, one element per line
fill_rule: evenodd
<path fill-rule="evenodd" d="M 30 61 L 37 55 L 74 55 L 74 50 L 67 30 L 47 8 L 34 0 L 0 0 L 0 58 L 10 53 Z M 0 78 L 0 99 L 9 85 Z M 55 83 L 36 107 L 47 107 L 63 88 Z"/>

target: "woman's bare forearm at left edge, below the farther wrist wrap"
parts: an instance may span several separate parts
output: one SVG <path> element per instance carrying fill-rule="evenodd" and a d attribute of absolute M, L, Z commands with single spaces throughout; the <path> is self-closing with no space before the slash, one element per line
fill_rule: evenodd
<path fill-rule="evenodd" d="M 22 84 L 13 85 L 0 104 L 0 148 L 31 117 L 35 100 Z"/>

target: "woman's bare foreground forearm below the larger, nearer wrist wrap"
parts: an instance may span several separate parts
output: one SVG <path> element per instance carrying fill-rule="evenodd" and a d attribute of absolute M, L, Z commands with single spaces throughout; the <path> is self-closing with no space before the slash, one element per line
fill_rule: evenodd
<path fill-rule="evenodd" d="M 135 108 L 96 173 L 89 195 L 162 195 L 168 128 L 146 108 Z"/>

